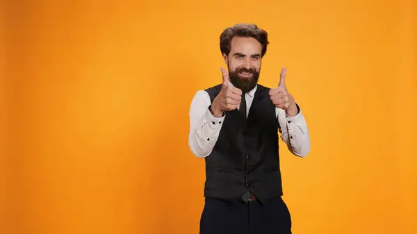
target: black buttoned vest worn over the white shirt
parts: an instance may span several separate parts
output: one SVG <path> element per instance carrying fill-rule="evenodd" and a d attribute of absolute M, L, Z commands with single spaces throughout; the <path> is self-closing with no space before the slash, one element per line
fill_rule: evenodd
<path fill-rule="evenodd" d="M 211 103 L 222 85 L 206 90 Z M 240 199 L 250 190 L 259 200 L 282 195 L 278 121 L 269 88 L 258 84 L 247 120 L 226 112 L 218 140 L 206 160 L 204 196 Z"/>

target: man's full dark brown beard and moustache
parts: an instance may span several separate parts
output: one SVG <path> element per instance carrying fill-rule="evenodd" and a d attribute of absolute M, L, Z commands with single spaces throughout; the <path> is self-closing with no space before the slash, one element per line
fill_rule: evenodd
<path fill-rule="evenodd" d="M 240 72 L 249 72 L 250 74 L 252 74 L 252 76 L 251 77 L 239 76 Z M 243 93 L 247 93 L 247 92 L 250 92 L 250 90 L 252 90 L 258 83 L 259 72 L 256 72 L 256 70 L 252 68 L 246 69 L 244 67 L 238 67 L 234 71 L 231 71 L 229 69 L 229 78 L 230 78 L 230 82 L 235 87 L 242 90 Z"/>

